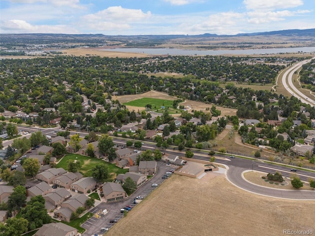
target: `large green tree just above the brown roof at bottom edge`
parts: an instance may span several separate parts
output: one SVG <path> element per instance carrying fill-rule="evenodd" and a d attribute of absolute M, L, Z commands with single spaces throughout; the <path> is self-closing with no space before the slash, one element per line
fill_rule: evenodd
<path fill-rule="evenodd" d="M 43 224 L 52 222 L 45 208 L 45 199 L 43 196 L 32 197 L 27 206 L 21 209 L 21 217 L 28 220 L 29 230 L 40 228 Z"/>

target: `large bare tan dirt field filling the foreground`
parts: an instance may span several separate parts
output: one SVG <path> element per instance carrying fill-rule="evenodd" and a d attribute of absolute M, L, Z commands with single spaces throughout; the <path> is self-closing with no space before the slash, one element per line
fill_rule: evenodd
<path fill-rule="evenodd" d="M 284 229 L 315 231 L 313 201 L 263 197 L 224 177 L 204 178 L 173 175 L 106 235 L 279 236 Z"/>

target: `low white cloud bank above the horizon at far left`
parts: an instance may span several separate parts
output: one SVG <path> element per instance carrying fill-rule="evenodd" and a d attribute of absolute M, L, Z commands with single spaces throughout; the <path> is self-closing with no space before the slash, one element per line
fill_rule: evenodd
<path fill-rule="evenodd" d="M 9 20 L 0 23 L 1 33 L 79 33 L 66 25 L 32 25 L 22 20 Z"/>

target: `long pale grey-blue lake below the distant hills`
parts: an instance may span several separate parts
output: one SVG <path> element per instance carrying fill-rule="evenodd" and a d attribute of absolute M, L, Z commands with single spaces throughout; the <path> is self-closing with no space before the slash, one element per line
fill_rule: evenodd
<path fill-rule="evenodd" d="M 206 56 L 206 55 L 263 55 L 263 54 L 283 54 L 283 53 L 315 53 L 315 47 L 300 48 L 269 48 L 269 49 L 244 49 L 244 50 L 184 50 L 175 48 L 114 48 L 101 49 L 101 51 L 143 53 L 149 55 L 170 55 L 170 56 Z"/>

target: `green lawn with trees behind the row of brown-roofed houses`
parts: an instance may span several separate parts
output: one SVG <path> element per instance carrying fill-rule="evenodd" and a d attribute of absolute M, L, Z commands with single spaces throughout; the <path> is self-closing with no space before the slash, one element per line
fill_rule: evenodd
<path fill-rule="evenodd" d="M 109 178 L 106 179 L 105 181 L 113 181 L 114 178 L 118 174 L 125 174 L 128 169 L 121 169 L 111 163 L 108 163 L 106 161 L 103 161 L 101 159 L 97 159 L 95 157 L 89 157 L 89 156 L 83 156 L 79 154 L 66 154 L 63 159 L 57 164 L 57 168 L 62 167 L 64 170 L 67 170 L 67 160 L 79 160 L 82 164 L 81 169 L 79 172 L 84 176 L 84 177 L 90 177 L 92 176 L 92 168 L 95 167 L 95 165 L 98 164 L 104 164 L 108 167 L 108 173 L 109 173 Z"/>

